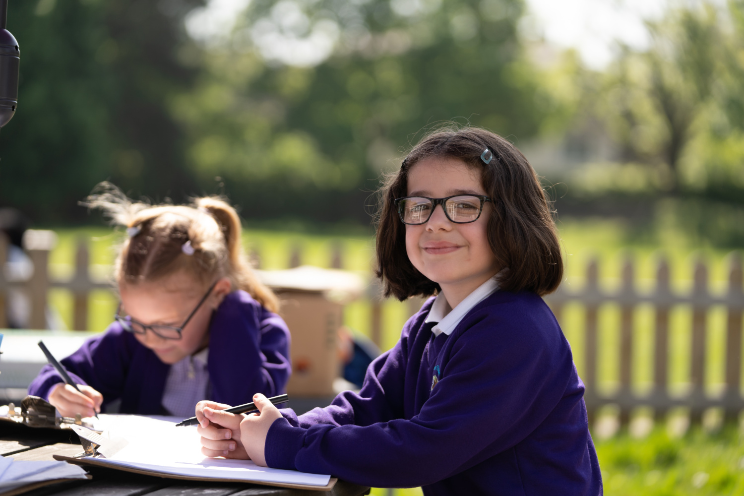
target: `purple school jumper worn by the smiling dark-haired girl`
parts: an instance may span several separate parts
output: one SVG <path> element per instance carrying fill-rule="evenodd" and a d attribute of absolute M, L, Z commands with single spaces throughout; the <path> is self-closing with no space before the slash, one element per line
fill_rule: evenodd
<path fill-rule="evenodd" d="M 424 323 L 432 301 L 359 394 L 283 410 L 266 463 L 427 496 L 601 495 L 584 386 L 542 298 L 497 291 L 437 337 Z"/>

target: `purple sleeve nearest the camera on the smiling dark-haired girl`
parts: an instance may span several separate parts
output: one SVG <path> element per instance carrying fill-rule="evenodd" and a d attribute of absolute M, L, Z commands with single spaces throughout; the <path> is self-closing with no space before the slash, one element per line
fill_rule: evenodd
<path fill-rule="evenodd" d="M 513 447 L 561 399 L 573 370 L 570 350 L 557 336 L 542 335 L 530 315 L 504 321 L 498 313 L 479 312 L 466 333 L 452 347 L 441 379 L 416 415 L 405 418 L 399 397 L 429 390 L 429 384 L 411 381 L 430 383 L 431 376 L 407 374 L 404 347 L 396 346 L 382 367 L 377 364 L 379 393 L 339 406 L 343 413 L 331 410 L 327 415 L 335 422 L 317 415 L 310 422 L 301 416 L 298 426 L 276 420 L 266 437 L 266 462 L 362 485 L 411 487 L 458 474 L 477 463 L 478 454 Z M 413 350 L 409 356 L 422 352 Z M 393 385 L 390 397 L 387 376 Z"/>

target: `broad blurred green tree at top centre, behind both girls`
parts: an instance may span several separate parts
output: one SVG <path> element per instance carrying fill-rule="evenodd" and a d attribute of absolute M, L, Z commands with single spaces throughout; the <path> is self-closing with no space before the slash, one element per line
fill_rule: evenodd
<path fill-rule="evenodd" d="M 257 0 L 173 100 L 190 165 L 247 217 L 368 220 L 363 204 L 441 121 L 528 138 L 547 109 L 521 0 Z"/>

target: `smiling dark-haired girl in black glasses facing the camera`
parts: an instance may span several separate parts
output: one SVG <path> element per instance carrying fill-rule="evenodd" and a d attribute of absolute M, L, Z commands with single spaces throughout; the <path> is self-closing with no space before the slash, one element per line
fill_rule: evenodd
<path fill-rule="evenodd" d="M 427 136 L 382 188 L 376 242 L 386 295 L 433 297 L 362 390 L 301 416 L 262 395 L 251 415 L 199 402 L 202 453 L 424 495 L 601 495 L 584 386 L 541 297 L 562 278 L 556 227 L 522 153 L 484 129 Z"/>

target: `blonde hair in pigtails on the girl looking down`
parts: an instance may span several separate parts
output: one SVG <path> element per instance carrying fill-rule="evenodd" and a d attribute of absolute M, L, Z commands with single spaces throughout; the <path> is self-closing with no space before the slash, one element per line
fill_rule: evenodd
<path fill-rule="evenodd" d="M 242 289 L 278 312 L 277 297 L 243 256 L 240 217 L 225 200 L 208 196 L 193 199 L 191 205 L 151 205 L 132 202 L 118 187 L 103 182 L 81 204 L 103 210 L 112 224 L 126 227 L 128 236 L 116 259 L 119 283 L 160 280 L 178 271 L 202 285 L 228 277 L 233 290 Z"/>

